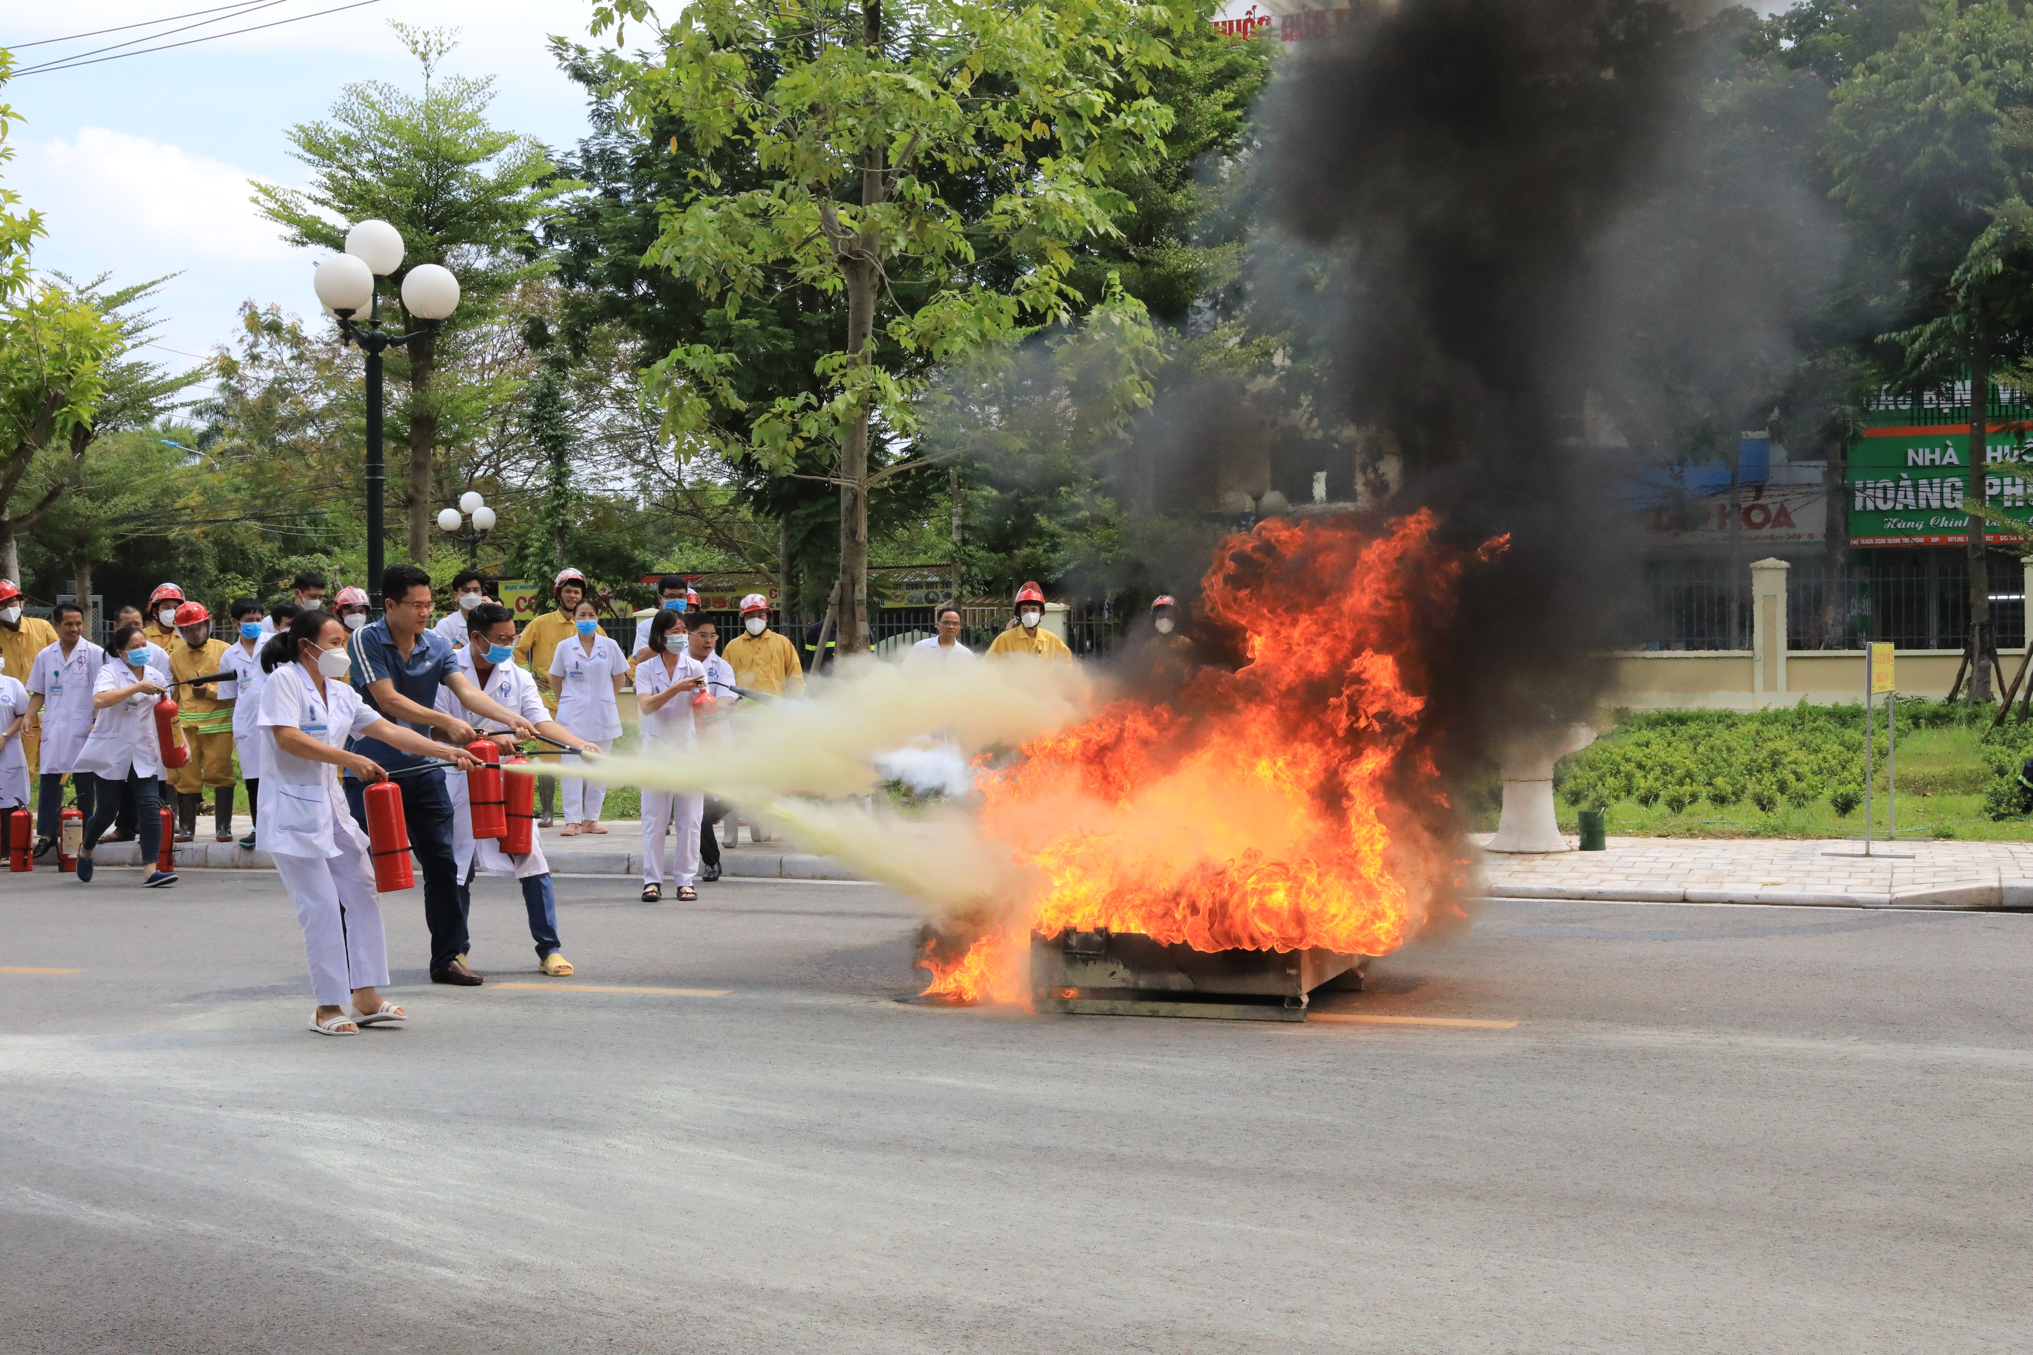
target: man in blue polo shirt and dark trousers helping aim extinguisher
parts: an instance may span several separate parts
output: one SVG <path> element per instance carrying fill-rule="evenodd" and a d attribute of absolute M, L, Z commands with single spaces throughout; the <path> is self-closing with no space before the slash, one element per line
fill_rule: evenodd
<path fill-rule="evenodd" d="M 449 687 L 474 715 L 500 721 L 522 737 L 537 733 L 518 711 L 510 711 L 459 668 L 459 652 L 443 636 L 431 634 L 431 575 L 417 565 L 392 565 L 382 573 L 386 616 L 354 632 L 354 687 L 382 717 L 429 737 L 464 748 L 480 731 L 455 715 L 435 709 L 439 685 Z M 388 772 L 423 764 L 380 739 L 354 739 L 348 752 L 372 758 Z M 466 908 L 459 906 L 459 867 L 451 855 L 451 796 L 443 768 L 396 776 L 403 790 L 403 819 L 409 845 L 423 867 L 423 920 L 431 928 L 431 981 L 474 987 L 484 979 L 466 967 Z M 346 802 L 366 829 L 366 786 L 346 778 Z"/>

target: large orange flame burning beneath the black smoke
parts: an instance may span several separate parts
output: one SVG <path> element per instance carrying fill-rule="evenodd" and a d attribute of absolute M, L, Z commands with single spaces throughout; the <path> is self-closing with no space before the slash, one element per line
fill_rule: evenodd
<path fill-rule="evenodd" d="M 925 991 L 1019 997 L 1029 930 L 1387 955 L 1452 910 L 1466 861 L 1421 739 L 1417 640 L 1506 542 L 1470 555 L 1435 526 L 1271 518 L 1222 542 L 1202 611 L 1246 662 L 1202 668 L 1175 703 L 1118 701 L 984 778 L 982 827 L 1037 892 L 958 959 L 929 945 Z"/>

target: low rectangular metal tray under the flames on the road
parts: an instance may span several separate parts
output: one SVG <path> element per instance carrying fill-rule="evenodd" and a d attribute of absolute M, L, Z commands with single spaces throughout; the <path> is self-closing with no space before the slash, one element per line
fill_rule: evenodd
<path fill-rule="evenodd" d="M 1362 987 L 1368 955 L 1195 951 L 1143 932 L 1031 932 L 1031 1004 L 1080 1016 L 1303 1022 L 1313 989 Z"/>

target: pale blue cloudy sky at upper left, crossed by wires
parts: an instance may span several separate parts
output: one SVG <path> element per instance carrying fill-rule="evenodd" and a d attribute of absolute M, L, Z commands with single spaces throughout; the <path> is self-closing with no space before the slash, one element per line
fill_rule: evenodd
<path fill-rule="evenodd" d="M 136 47 L 152 47 L 348 4 L 274 0 L 260 12 L 228 14 L 175 37 L 148 37 L 181 26 L 171 22 L 26 47 L 224 2 L 4 6 L 0 47 L 26 67 L 134 37 L 148 39 Z M 187 368 L 230 343 L 242 301 L 315 315 L 317 256 L 285 246 L 276 228 L 254 213 L 248 181 L 305 183 L 305 167 L 291 158 L 289 128 L 323 118 L 342 85 L 380 79 L 421 87 L 417 63 L 388 20 L 459 28 L 459 47 L 441 71 L 494 75 L 494 126 L 569 148 L 586 130 L 586 98 L 551 61 L 549 37 L 590 43 L 590 0 L 374 0 L 264 33 L 18 75 L 0 87 L 0 104 L 12 104 L 20 118 L 8 136 L 16 154 L 0 167 L 0 183 L 45 215 L 49 236 L 35 248 L 37 268 L 79 280 L 112 272 L 112 284 L 177 274 L 157 303 L 155 356 Z M 213 16 L 181 22 L 203 18 Z"/>

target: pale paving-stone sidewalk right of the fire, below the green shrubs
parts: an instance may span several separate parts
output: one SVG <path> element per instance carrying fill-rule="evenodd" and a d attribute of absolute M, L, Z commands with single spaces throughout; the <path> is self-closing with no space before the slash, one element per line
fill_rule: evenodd
<path fill-rule="evenodd" d="M 1480 835 L 1478 845 L 1488 843 Z M 1836 908 L 2033 908 L 2033 843 L 1612 837 L 1608 851 L 1482 853 L 1492 898 Z"/>

